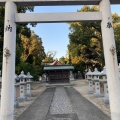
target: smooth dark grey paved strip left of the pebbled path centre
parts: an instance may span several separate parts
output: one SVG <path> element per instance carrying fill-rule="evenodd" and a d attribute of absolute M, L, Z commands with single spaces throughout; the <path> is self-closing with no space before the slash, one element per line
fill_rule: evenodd
<path fill-rule="evenodd" d="M 55 88 L 46 89 L 17 120 L 45 120 Z"/>

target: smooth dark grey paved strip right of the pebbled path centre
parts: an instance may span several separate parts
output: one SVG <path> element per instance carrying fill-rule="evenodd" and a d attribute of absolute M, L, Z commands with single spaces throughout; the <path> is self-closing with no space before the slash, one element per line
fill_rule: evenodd
<path fill-rule="evenodd" d="M 66 92 L 79 120 L 111 120 L 106 114 L 84 98 L 74 88 L 66 88 Z"/>

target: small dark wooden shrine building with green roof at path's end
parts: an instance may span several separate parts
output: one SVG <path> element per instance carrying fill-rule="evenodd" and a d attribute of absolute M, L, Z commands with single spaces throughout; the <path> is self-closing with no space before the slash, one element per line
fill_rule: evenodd
<path fill-rule="evenodd" d="M 44 66 L 49 83 L 69 83 L 70 71 L 73 70 L 74 66 L 61 64 L 58 60 Z"/>

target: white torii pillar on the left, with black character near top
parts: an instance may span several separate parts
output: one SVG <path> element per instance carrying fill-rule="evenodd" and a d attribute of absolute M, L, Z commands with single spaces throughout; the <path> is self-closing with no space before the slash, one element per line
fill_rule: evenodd
<path fill-rule="evenodd" d="M 13 120 L 16 49 L 16 4 L 5 3 L 4 50 L 0 120 Z"/>

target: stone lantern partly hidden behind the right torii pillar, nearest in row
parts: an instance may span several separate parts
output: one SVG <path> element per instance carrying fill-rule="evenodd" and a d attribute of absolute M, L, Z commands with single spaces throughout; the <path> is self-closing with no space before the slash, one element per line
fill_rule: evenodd
<path fill-rule="evenodd" d="M 108 104 L 109 103 L 109 92 L 108 92 L 108 84 L 107 84 L 107 74 L 106 74 L 106 68 L 103 68 L 103 71 L 101 72 L 102 79 L 100 80 L 104 84 L 104 98 L 103 101 Z"/>

